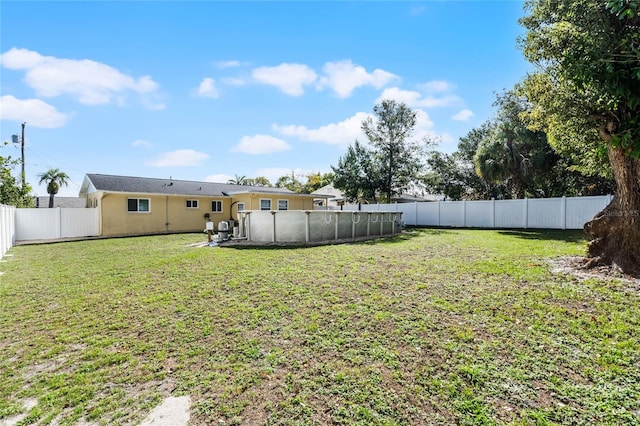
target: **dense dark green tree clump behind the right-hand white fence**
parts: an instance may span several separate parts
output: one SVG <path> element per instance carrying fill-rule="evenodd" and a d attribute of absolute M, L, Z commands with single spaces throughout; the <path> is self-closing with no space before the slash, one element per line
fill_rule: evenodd
<path fill-rule="evenodd" d="M 452 200 L 612 193 L 615 187 L 612 180 L 587 173 L 568 153 L 553 152 L 543 132 L 526 127 L 525 113 L 531 110 L 526 99 L 517 96 L 515 91 L 508 91 L 498 95 L 494 106 L 498 107 L 496 118 L 461 137 L 456 152 L 429 153 L 429 171 L 424 179 L 431 192 Z M 496 142 L 501 130 L 511 135 L 511 141 Z M 514 151 L 518 153 L 515 159 Z M 474 158 L 480 162 L 480 175 L 487 179 L 476 173 Z M 509 161 L 516 165 L 524 162 L 526 169 L 516 167 L 509 171 Z M 518 182 L 514 182 L 514 175 Z M 514 183 L 520 185 L 515 194 Z"/>

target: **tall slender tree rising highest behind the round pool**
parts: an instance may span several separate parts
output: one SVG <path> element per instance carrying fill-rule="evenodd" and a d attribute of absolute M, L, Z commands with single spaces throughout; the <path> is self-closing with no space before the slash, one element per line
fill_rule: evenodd
<path fill-rule="evenodd" d="M 413 141 L 416 111 L 404 103 L 383 100 L 373 107 L 374 118 L 362 123 L 362 131 L 374 150 L 382 175 L 381 192 L 390 203 L 412 181 L 417 181 L 423 169 L 423 146 Z"/>

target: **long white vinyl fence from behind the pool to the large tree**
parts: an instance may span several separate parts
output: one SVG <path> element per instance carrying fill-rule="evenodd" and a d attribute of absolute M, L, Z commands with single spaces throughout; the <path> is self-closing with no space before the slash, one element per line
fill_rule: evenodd
<path fill-rule="evenodd" d="M 585 223 L 611 202 L 611 198 L 611 195 L 601 195 L 524 200 L 362 204 L 360 209 L 401 211 L 402 221 L 410 226 L 582 229 Z M 358 206 L 349 205 L 343 209 L 358 210 Z"/>

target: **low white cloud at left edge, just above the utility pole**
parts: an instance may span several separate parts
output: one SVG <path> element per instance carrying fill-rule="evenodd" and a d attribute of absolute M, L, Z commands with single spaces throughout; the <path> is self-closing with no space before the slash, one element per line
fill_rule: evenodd
<path fill-rule="evenodd" d="M 26 121 L 29 126 L 56 128 L 65 125 L 70 115 L 59 112 L 40 99 L 17 99 L 12 95 L 0 97 L 0 119 Z"/>

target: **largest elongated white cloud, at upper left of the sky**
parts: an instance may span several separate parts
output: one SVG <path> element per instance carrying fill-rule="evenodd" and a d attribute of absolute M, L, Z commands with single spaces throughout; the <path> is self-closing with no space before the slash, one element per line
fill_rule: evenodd
<path fill-rule="evenodd" d="M 125 93 L 156 95 L 158 83 L 150 76 L 134 78 L 109 65 L 89 59 L 62 59 L 43 56 L 28 49 L 12 48 L 0 55 L 4 68 L 26 70 L 24 81 L 39 96 L 56 97 L 63 94 L 75 97 L 85 105 L 106 104 L 114 99 L 121 102 Z M 164 108 L 158 102 L 145 102 L 154 109 Z"/>

